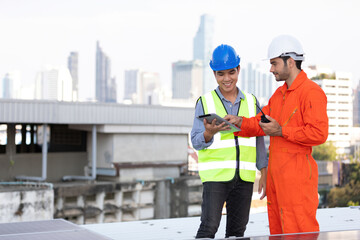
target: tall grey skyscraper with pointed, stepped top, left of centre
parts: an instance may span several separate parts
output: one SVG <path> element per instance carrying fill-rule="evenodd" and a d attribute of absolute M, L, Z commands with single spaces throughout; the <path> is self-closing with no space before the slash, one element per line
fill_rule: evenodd
<path fill-rule="evenodd" d="M 96 43 L 96 100 L 99 102 L 116 102 L 116 79 L 111 78 L 110 58 Z"/>

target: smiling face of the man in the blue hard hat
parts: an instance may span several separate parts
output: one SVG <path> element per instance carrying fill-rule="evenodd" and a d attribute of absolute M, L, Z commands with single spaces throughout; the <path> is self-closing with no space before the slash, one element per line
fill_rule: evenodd
<path fill-rule="evenodd" d="M 236 90 L 240 67 L 215 71 L 215 78 L 222 93 L 232 93 Z"/>

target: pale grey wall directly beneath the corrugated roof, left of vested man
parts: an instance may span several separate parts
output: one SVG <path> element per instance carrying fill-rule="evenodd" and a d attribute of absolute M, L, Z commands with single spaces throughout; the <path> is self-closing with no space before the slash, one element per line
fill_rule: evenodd
<path fill-rule="evenodd" d="M 97 133 L 97 167 L 112 163 L 187 162 L 187 134 Z M 91 153 L 91 133 L 87 149 Z M 91 154 L 88 161 L 91 162 Z"/>

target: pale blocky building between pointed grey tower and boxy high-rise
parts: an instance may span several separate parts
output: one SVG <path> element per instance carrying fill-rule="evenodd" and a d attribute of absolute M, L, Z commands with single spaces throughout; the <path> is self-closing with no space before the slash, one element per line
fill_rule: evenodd
<path fill-rule="evenodd" d="M 140 69 L 125 71 L 124 100 L 134 104 L 159 104 L 160 76 Z"/>

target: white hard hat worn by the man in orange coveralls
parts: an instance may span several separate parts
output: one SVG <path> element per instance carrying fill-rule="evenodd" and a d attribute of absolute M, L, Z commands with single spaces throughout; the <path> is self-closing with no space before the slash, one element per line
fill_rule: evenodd
<path fill-rule="evenodd" d="M 280 35 L 272 40 L 268 49 L 268 59 L 289 56 L 295 61 L 303 61 L 304 51 L 300 42 L 290 35 Z"/>

